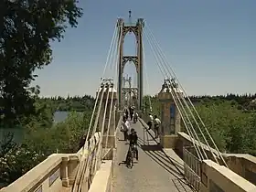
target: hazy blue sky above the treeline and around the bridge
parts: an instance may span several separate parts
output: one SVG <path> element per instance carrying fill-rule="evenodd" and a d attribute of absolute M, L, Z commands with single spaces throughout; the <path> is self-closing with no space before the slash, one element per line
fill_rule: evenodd
<path fill-rule="evenodd" d="M 255 0 L 80 0 L 79 27 L 53 43 L 52 63 L 37 71 L 33 84 L 43 96 L 95 95 L 118 17 L 143 17 L 164 50 L 187 94 L 256 92 Z M 135 51 L 132 36 L 124 52 Z M 144 38 L 149 88 L 160 90 L 163 76 Z M 124 73 L 134 77 L 135 68 Z"/>

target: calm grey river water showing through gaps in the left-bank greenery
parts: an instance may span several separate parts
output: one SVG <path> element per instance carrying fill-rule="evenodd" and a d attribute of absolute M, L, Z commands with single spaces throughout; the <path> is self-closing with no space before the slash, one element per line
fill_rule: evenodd
<path fill-rule="evenodd" d="M 69 115 L 69 112 L 55 112 L 53 122 L 59 123 L 64 121 Z M 22 140 L 23 130 L 21 128 L 0 128 L 0 141 L 5 137 L 6 133 L 14 133 L 14 140 L 20 143 Z"/>

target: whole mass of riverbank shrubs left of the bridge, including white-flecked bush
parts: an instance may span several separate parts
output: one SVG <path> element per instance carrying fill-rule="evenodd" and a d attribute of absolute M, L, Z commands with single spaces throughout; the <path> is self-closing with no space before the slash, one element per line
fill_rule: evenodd
<path fill-rule="evenodd" d="M 29 169 L 53 153 L 75 153 L 79 150 L 80 138 L 87 133 L 91 120 L 91 105 L 94 99 L 90 96 L 75 97 L 81 103 L 87 103 L 84 112 L 69 112 L 68 118 L 61 123 L 53 124 L 53 113 L 58 105 L 73 101 L 73 98 L 35 99 L 35 113 L 20 118 L 26 130 L 22 144 L 13 142 L 13 135 L 6 135 L 0 144 L 0 180 L 5 185 L 24 175 Z"/>

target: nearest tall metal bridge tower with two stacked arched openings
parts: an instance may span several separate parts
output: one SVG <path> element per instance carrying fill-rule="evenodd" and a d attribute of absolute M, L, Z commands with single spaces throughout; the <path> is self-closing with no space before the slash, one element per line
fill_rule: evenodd
<path fill-rule="evenodd" d="M 143 27 L 144 19 L 138 18 L 136 23 L 131 22 L 131 11 L 129 11 L 129 23 L 124 23 L 123 18 L 118 18 L 118 36 L 120 42 L 118 43 L 119 50 L 119 64 L 118 64 L 118 105 L 119 109 L 123 109 L 123 69 L 127 62 L 132 61 L 137 72 L 137 88 L 138 88 L 138 109 L 143 110 Z M 127 33 L 133 33 L 136 38 L 136 55 L 123 55 L 123 40 Z"/>

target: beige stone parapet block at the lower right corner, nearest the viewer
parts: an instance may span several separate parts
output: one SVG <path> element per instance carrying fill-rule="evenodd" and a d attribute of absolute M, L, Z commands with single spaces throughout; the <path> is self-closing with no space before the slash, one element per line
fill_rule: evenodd
<path fill-rule="evenodd" d="M 256 186 L 232 172 L 229 168 L 211 160 L 204 160 L 201 177 L 202 192 L 255 192 Z"/>

